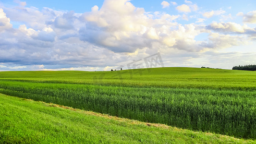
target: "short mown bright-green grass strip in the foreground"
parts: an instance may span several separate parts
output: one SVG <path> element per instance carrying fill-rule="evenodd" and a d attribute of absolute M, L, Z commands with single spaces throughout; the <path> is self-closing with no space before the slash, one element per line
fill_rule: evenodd
<path fill-rule="evenodd" d="M 256 143 L 2 94 L 0 123 L 0 143 Z"/>

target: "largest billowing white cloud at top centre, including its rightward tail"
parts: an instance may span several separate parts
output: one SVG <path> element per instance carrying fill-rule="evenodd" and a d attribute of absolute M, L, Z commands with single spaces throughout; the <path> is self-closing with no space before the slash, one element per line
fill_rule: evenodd
<path fill-rule="evenodd" d="M 174 16 L 156 12 L 149 17 L 144 9 L 135 8 L 130 2 L 119 3 L 121 5 L 116 5 L 117 8 L 109 7 L 108 2 L 112 3 L 112 0 L 106 0 L 101 9 L 97 8 L 82 15 L 88 24 L 80 30 L 81 40 L 113 52 L 133 53 L 137 49 L 156 47 L 188 51 L 204 49 L 201 42 L 196 43 L 194 40 L 201 33 L 199 26 L 172 23 L 178 17 L 188 20 L 187 15 Z M 124 7 L 127 11 L 120 14 L 120 11 L 125 10 Z"/>

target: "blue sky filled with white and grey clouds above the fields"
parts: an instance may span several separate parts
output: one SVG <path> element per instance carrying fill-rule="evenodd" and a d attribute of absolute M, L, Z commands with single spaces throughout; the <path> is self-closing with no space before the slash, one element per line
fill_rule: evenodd
<path fill-rule="evenodd" d="M 256 0 L 0 0 L 0 71 L 248 64 Z"/>

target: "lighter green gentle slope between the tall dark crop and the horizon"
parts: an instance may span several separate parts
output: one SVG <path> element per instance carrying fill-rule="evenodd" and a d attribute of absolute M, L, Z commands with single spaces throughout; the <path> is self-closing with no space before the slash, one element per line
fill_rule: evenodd
<path fill-rule="evenodd" d="M 114 72 L 0 72 L 0 80 L 256 90 L 256 72 L 180 67 Z"/>

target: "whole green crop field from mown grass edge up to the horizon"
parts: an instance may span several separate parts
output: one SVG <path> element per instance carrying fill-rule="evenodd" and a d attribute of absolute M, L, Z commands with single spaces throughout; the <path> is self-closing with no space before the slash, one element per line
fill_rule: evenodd
<path fill-rule="evenodd" d="M 153 68 L 0 72 L 0 93 L 256 139 L 256 72 L 251 71 Z"/>

